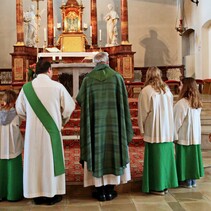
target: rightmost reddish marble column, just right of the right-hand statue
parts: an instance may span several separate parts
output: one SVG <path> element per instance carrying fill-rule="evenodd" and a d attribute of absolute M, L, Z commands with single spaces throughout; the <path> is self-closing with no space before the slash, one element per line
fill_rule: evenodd
<path fill-rule="evenodd" d="M 121 0 L 121 44 L 128 44 L 128 7 L 127 0 Z"/>

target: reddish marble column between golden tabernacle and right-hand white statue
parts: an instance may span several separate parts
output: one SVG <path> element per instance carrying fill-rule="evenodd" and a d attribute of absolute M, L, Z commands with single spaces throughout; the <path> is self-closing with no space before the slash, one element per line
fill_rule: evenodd
<path fill-rule="evenodd" d="M 91 0 L 91 26 L 92 26 L 92 45 L 97 46 L 97 4 L 96 0 Z"/>

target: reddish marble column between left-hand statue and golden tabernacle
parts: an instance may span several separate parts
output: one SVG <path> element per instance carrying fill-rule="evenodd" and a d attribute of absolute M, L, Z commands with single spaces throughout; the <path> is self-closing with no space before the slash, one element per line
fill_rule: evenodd
<path fill-rule="evenodd" d="M 47 1 L 47 31 L 48 47 L 54 46 L 53 0 Z"/>

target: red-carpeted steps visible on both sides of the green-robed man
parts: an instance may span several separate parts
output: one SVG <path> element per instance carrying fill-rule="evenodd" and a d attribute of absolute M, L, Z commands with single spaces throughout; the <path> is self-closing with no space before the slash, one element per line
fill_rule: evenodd
<path fill-rule="evenodd" d="M 130 168 L 132 180 L 140 180 L 143 172 L 144 142 L 138 127 L 137 98 L 129 98 L 134 136 L 129 144 Z M 69 122 L 62 129 L 65 152 L 66 181 L 70 184 L 82 184 L 83 168 L 80 160 L 80 107 L 76 105 Z"/>

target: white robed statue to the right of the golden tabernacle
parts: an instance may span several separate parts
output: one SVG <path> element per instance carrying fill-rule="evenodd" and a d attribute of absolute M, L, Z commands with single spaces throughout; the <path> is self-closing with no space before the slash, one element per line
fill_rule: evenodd
<path fill-rule="evenodd" d="M 118 45 L 117 37 L 117 22 L 119 16 L 117 12 L 113 9 L 112 4 L 108 4 L 109 12 L 105 15 L 104 20 L 107 21 L 107 44 L 106 46 Z"/>

